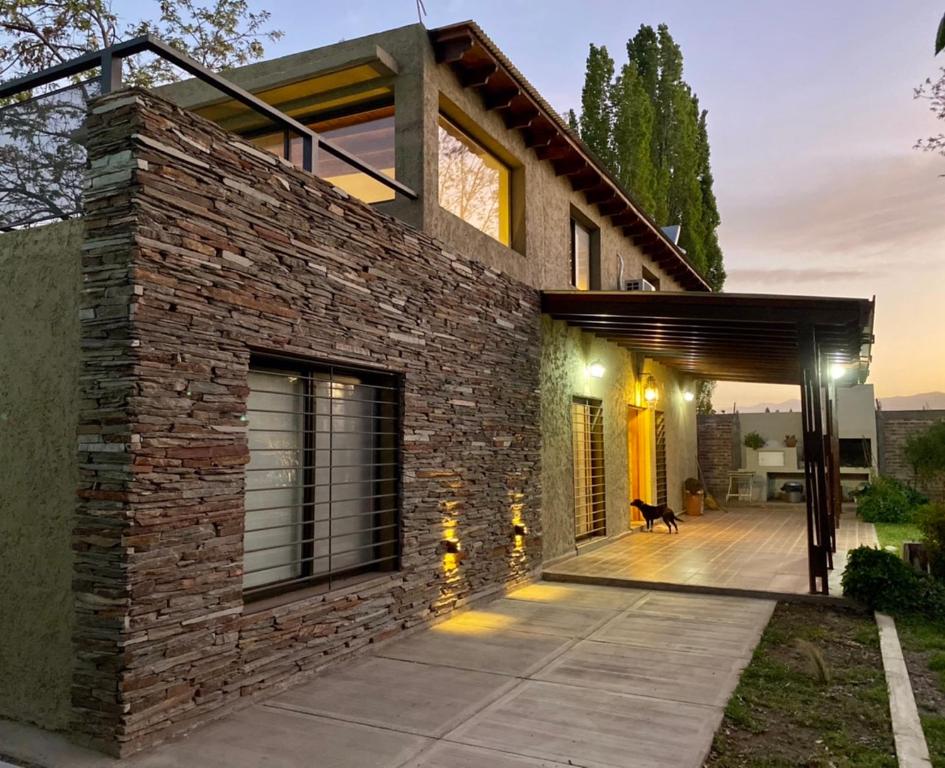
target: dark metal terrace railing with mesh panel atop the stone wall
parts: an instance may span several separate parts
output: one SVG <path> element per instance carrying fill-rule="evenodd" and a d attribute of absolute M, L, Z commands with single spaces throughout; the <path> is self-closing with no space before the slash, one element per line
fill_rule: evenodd
<path fill-rule="evenodd" d="M 298 137 L 301 141 L 300 165 L 303 170 L 317 174 L 318 153 L 319 151 L 325 151 L 374 181 L 390 188 L 395 194 L 403 195 L 411 200 L 417 198 L 417 193 L 410 187 L 390 178 L 383 171 L 364 162 L 335 142 L 323 138 L 311 128 L 267 104 L 249 91 L 210 71 L 163 40 L 152 35 L 143 35 L 132 40 L 116 43 L 99 51 L 92 51 L 78 56 L 42 72 L 24 75 L 6 83 L 0 83 L 0 103 L 17 97 L 21 99 L 0 109 L 0 166 L 3 166 L 8 173 L 13 173 L 13 178 L 17 182 L 9 187 L 13 190 L 12 194 L 9 189 L 5 190 L 3 185 L 0 184 L 0 231 L 39 223 L 40 221 L 70 218 L 81 213 L 78 203 L 75 201 L 78 201 L 81 197 L 81 174 L 85 167 L 85 155 L 79 141 L 81 122 L 85 116 L 85 103 L 99 94 L 108 94 L 119 90 L 122 87 L 122 63 L 130 56 L 141 53 L 154 54 L 179 67 L 225 96 L 248 106 L 285 131 L 287 136 Z M 56 92 L 61 94 L 72 93 L 74 95 L 66 100 L 71 104 L 67 104 L 70 117 L 66 120 L 68 125 L 65 127 L 58 125 L 63 123 L 61 116 L 53 117 L 48 114 L 48 109 L 43 108 L 44 103 L 46 105 L 53 103 L 50 101 L 54 96 L 53 93 L 42 94 L 33 99 L 28 98 L 37 88 L 42 88 L 65 78 L 76 78 L 94 70 L 99 70 L 98 77 L 94 81 L 73 85 Z M 77 103 L 76 94 L 81 95 L 81 99 L 79 99 L 81 104 Z M 81 120 L 76 119 L 75 114 L 71 114 L 77 114 L 77 106 L 81 107 Z M 61 108 L 66 110 L 66 106 Z M 29 117 L 33 129 L 16 133 L 18 129 L 14 127 L 14 133 L 11 135 L 10 126 L 15 126 L 17 121 L 22 122 L 24 114 Z M 51 126 L 48 129 L 44 126 L 47 123 Z M 42 134 L 47 130 L 55 134 L 55 140 L 58 142 L 54 146 L 50 146 L 44 153 L 48 157 L 46 164 L 50 166 L 52 171 L 58 169 L 59 172 L 59 177 L 55 179 L 57 188 L 54 189 L 44 188 L 44 184 L 46 187 L 49 184 L 49 180 L 45 176 L 49 175 L 50 169 L 39 169 L 38 171 L 35 154 L 31 156 L 31 150 L 35 150 L 35 142 L 31 143 L 33 142 L 32 136 L 37 132 Z M 286 142 L 286 159 L 290 159 L 290 143 Z M 17 146 L 18 144 L 20 146 Z M 11 159 L 11 152 L 14 150 L 19 154 L 15 158 L 15 162 Z M 67 151 L 70 155 L 78 152 L 81 157 L 72 162 L 69 168 L 61 169 L 57 163 L 62 162 L 64 151 Z M 31 178 L 31 175 L 35 178 Z M 76 175 L 79 176 L 78 181 L 72 178 Z M 44 199 L 38 199 L 38 194 L 41 194 Z M 51 198 L 53 204 L 51 205 L 45 198 Z M 73 201 L 73 203 L 67 206 L 55 205 L 57 200 L 62 199 Z M 35 206 L 38 210 L 25 210 L 31 206 Z"/>

